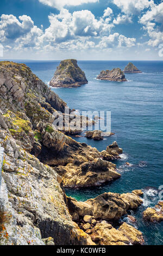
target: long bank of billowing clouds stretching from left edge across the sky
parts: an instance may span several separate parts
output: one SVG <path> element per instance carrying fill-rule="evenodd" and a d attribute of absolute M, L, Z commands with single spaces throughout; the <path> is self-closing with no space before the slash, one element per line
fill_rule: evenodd
<path fill-rule="evenodd" d="M 111 33 L 114 27 L 109 15 L 112 10 L 104 10 L 104 16 L 96 18 L 89 10 L 74 11 L 72 14 L 62 8 L 59 14 L 50 14 L 49 27 L 43 31 L 33 20 L 22 15 L 2 15 L 0 38 L 5 50 L 39 51 L 85 51 L 97 48 L 131 47 L 135 38 Z M 123 19 L 123 18 L 122 18 Z"/>

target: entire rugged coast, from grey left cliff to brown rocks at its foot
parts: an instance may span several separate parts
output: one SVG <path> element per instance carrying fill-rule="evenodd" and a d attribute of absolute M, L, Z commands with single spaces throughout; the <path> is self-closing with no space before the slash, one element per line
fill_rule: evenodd
<path fill-rule="evenodd" d="M 139 230 L 114 226 L 142 204 L 140 191 L 86 202 L 66 196 L 64 187 L 120 178 L 112 161 L 123 152 L 116 142 L 99 152 L 58 131 L 53 122 L 66 106 L 26 65 L 0 62 L 0 244 L 142 245 Z"/>

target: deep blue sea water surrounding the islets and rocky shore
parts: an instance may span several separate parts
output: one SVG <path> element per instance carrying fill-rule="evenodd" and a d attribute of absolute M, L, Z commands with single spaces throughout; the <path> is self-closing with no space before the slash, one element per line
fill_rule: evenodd
<path fill-rule="evenodd" d="M 53 77 L 59 61 L 24 61 L 45 83 Z M 88 84 L 79 88 L 53 88 L 70 108 L 79 111 L 111 111 L 111 131 L 114 136 L 103 141 L 85 137 L 76 138 L 98 150 L 104 150 L 113 141 L 123 148 L 122 159 L 116 161 L 121 178 L 86 190 L 66 190 L 68 196 L 78 200 L 94 198 L 104 192 L 126 193 L 144 191 L 143 205 L 130 214 L 135 216 L 135 227 L 143 232 L 148 245 L 163 244 L 163 222 L 148 223 L 142 212 L 154 206 L 159 199 L 159 186 L 163 185 L 163 62 L 134 61 L 141 74 L 126 74 L 128 82 L 96 80 L 101 70 L 121 68 L 127 61 L 79 61 Z M 126 162 L 131 166 L 126 166 Z M 163 193 L 162 193 L 163 199 Z"/>

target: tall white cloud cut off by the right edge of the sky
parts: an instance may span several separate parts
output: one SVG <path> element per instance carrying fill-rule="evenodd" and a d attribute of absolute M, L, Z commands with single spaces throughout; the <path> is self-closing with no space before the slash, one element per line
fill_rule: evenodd
<path fill-rule="evenodd" d="M 151 38 L 148 45 L 158 46 L 163 41 L 163 3 L 153 5 L 151 10 L 144 14 L 140 23 Z"/>

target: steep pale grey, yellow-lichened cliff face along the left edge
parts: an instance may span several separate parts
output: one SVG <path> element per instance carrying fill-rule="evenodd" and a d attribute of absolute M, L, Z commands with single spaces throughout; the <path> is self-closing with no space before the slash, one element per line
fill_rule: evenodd
<path fill-rule="evenodd" d="M 53 113 L 64 111 L 65 106 L 26 65 L 0 63 L 0 144 L 4 148 L 2 178 L 7 186 L 3 189 L 7 191 L 4 214 L 1 212 L 3 244 L 44 245 L 42 238 L 49 236 L 56 245 L 93 244 L 72 221 L 60 176 L 30 154 L 38 156 L 42 147 L 53 146 L 56 153 L 66 142 L 73 144 L 63 133 L 52 132 Z M 45 130 L 41 130 L 41 122 L 46 124 Z M 15 237 L 8 229 L 12 222 L 16 223 Z"/>

